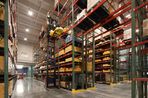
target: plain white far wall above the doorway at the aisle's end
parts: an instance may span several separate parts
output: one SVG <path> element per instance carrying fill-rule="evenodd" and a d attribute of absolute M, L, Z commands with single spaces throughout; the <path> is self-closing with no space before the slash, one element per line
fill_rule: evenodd
<path fill-rule="evenodd" d="M 17 62 L 33 63 L 33 46 L 18 43 Z"/>

